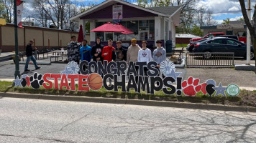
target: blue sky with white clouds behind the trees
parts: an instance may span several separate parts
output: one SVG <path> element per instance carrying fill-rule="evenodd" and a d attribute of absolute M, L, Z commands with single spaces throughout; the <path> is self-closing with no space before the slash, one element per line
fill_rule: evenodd
<path fill-rule="evenodd" d="M 25 0 L 27 1 L 27 6 L 29 6 L 32 2 L 32 0 Z M 71 0 L 75 1 L 75 0 Z M 93 3 L 93 4 L 100 4 L 101 2 L 105 0 L 76 0 L 79 3 Z M 134 2 L 135 0 L 130 0 L 131 2 Z M 247 6 L 247 0 L 246 6 Z M 251 0 L 252 6 L 255 6 L 256 0 Z M 85 5 L 86 5 L 85 4 Z M 196 2 L 197 7 L 204 6 L 205 9 L 209 9 L 213 11 L 213 17 L 214 19 L 221 24 L 223 19 L 229 18 L 230 20 L 238 20 L 242 18 L 242 11 L 240 8 L 240 4 L 238 0 L 198 0 Z M 253 11 L 252 11 L 253 12 Z"/>

